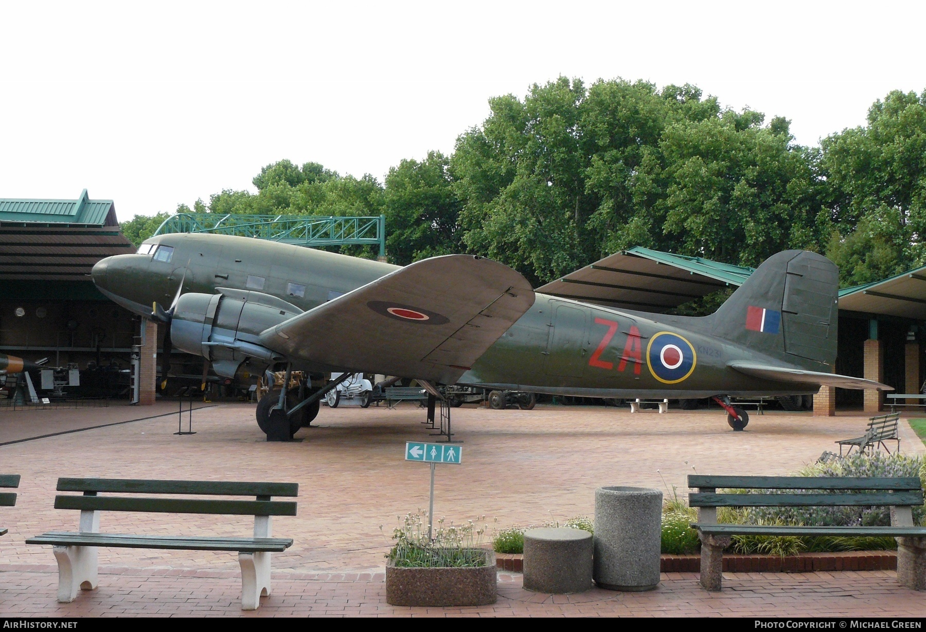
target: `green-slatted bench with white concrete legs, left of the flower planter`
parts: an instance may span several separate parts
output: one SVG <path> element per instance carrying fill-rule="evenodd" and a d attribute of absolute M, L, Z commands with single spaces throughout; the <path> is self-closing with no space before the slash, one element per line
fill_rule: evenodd
<path fill-rule="evenodd" d="M 270 594 L 270 552 L 282 552 L 291 538 L 270 537 L 270 518 L 294 516 L 295 501 L 274 496 L 298 495 L 297 483 L 244 483 L 224 481 L 158 481 L 122 478 L 59 478 L 58 491 L 83 492 L 82 496 L 55 497 L 55 509 L 81 512 L 79 531 L 51 531 L 31 537 L 26 544 L 51 544 L 58 563 L 57 600 L 73 601 L 78 589 L 96 588 L 98 547 L 129 549 L 231 550 L 241 564 L 242 610 L 256 610 L 260 598 Z M 254 496 L 244 499 L 176 499 L 138 496 L 97 496 L 99 493 L 195 494 L 199 496 Z M 211 513 L 253 515 L 254 537 L 131 536 L 99 533 L 100 512 Z"/>

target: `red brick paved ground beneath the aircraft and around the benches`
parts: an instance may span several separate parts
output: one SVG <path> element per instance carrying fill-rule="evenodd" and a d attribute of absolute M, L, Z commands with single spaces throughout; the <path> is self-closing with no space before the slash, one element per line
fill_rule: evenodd
<path fill-rule="evenodd" d="M 162 405 L 165 411 L 170 406 L 173 404 L 169 402 Z M 118 421 L 114 411 L 118 412 L 102 409 L 94 415 L 79 411 L 80 419 L 74 413 L 71 421 L 77 425 Z M 143 416 L 141 411 L 125 409 L 122 419 Z M 42 414 L 23 413 L 34 424 L 36 434 L 44 434 Z M 67 414 L 62 416 L 67 420 Z M 271 607 L 262 607 L 258 613 L 290 613 L 297 605 L 302 609 L 298 612 L 308 613 L 305 601 L 317 599 L 324 600 L 324 608 L 333 609 L 348 603 L 355 608 L 357 603 L 354 610 L 342 608 L 339 612 L 361 613 L 359 601 L 351 601 L 357 595 L 369 597 L 370 605 L 364 606 L 363 613 L 368 607 L 382 612 L 387 608 L 382 604 L 382 583 L 332 583 L 313 574 L 382 572 L 383 554 L 389 548 L 388 536 L 396 516 L 427 505 L 428 469 L 402 459 L 405 441 L 428 438 L 428 431 L 419 423 L 423 417 L 424 412 L 411 405 L 396 411 L 383 407 L 332 411 L 323 407 L 318 419 L 322 427 L 300 431 L 298 437 L 304 438 L 303 442 L 272 444 L 262 440 L 253 405 L 222 404 L 194 412 L 194 430 L 198 432 L 194 436 L 172 435 L 176 420 L 162 417 L 0 447 L 0 470 L 22 474 L 17 507 L 0 509 L 0 525 L 10 529 L 0 538 L 2 610 L 64 614 L 71 612 L 68 608 L 114 612 L 144 607 L 145 612 L 153 613 L 165 607 L 160 599 L 192 604 L 183 607 L 203 612 L 218 609 L 240 613 L 236 556 L 198 551 L 100 550 L 103 573 L 125 569 L 120 571 L 123 574 L 104 575 L 102 587 L 83 595 L 78 605 L 58 606 L 50 548 L 26 546 L 23 540 L 47 530 L 74 529 L 77 512 L 52 508 L 56 478 L 97 475 L 298 482 L 299 515 L 278 518 L 274 523 L 274 534 L 294 537 L 294 546 L 274 556 L 279 590 L 268 604 Z M 26 423 L 25 416 L 19 421 L 11 419 L 9 413 L 0 418 L 0 440 L 6 423 Z M 787 474 L 815 460 L 824 449 L 833 449 L 835 439 L 857 436 L 864 425 L 860 413 L 835 418 L 770 413 L 754 415 L 748 432 L 732 433 L 717 411 L 670 411 L 664 415 L 644 411 L 632 415 L 596 407 L 456 409 L 454 428 L 457 438 L 465 441 L 464 463 L 439 468 L 435 513 L 457 522 L 484 514 L 490 529 L 493 518 L 498 519 L 497 525 L 505 526 L 590 515 L 594 512 L 594 488 L 601 485 L 664 488 L 665 478 L 683 494 L 685 475 L 692 472 L 692 466 L 699 474 Z M 912 444 L 905 442 L 904 447 L 908 450 Z M 246 535 L 251 525 L 247 519 L 225 516 L 110 512 L 103 514 L 101 529 Z M 169 578 L 170 573 L 182 573 L 183 583 Z M 210 578 L 213 575 L 216 577 Z M 693 576 L 667 579 L 662 590 L 644 596 L 606 593 L 610 598 L 607 607 L 614 609 L 601 612 L 649 613 L 674 608 L 673 613 L 685 613 L 700 612 L 698 608 L 703 607 L 707 612 L 731 608 L 761 613 L 793 600 L 798 604 L 795 608 L 808 609 L 799 612 L 807 613 L 813 608 L 838 609 L 832 613 L 856 612 L 852 610 L 855 608 L 875 612 L 870 604 L 888 609 L 883 612 L 902 613 L 905 607 L 922 603 L 920 596 L 898 588 L 895 580 L 888 578 L 893 577 L 890 572 L 735 575 L 728 583 L 731 589 L 722 596 L 701 592 L 694 586 Z M 519 588 L 506 584 L 503 592 L 506 590 Z M 846 591 L 854 597 L 832 597 Z M 517 594 L 524 597 L 523 592 Z M 274 605 L 278 597 L 284 599 L 279 608 Z M 499 613 L 521 613 L 518 609 L 526 607 L 520 598 L 505 599 L 508 601 L 500 600 L 495 606 L 501 609 Z M 636 610 L 619 609 L 620 604 L 627 603 L 636 604 Z M 531 606 L 531 612 L 547 613 L 546 607 Z M 573 609 L 570 613 L 598 612 L 598 606 L 577 603 L 569 608 Z M 400 611 L 411 612 L 384 612 Z"/>

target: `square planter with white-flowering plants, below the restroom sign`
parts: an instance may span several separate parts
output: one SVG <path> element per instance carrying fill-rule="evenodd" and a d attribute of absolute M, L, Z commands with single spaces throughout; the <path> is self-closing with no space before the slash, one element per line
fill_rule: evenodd
<path fill-rule="evenodd" d="M 484 519 L 484 516 L 483 516 Z M 428 537 L 427 513 L 408 513 L 393 530 L 386 554 L 386 601 L 397 606 L 477 606 L 494 603 L 494 551 L 481 549 L 486 527 L 437 521 Z"/>

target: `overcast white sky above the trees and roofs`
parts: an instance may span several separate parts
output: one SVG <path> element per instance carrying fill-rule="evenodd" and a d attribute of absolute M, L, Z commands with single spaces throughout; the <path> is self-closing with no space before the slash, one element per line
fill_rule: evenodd
<path fill-rule="evenodd" d="M 926 89 L 924 24 L 923 2 L 0 0 L 0 197 L 87 188 L 126 220 L 282 158 L 382 180 L 561 74 L 695 83 L 816 145 Z"/>

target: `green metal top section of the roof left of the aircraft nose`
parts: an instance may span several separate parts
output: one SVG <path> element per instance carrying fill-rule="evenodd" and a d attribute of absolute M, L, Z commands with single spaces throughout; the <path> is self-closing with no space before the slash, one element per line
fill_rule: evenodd
<path fill-rule="evenodd" d="M 0 198 L 0 223 L 118 226 L 112 200 L 92 200 L 87 190 L 76 200 Z"/>

